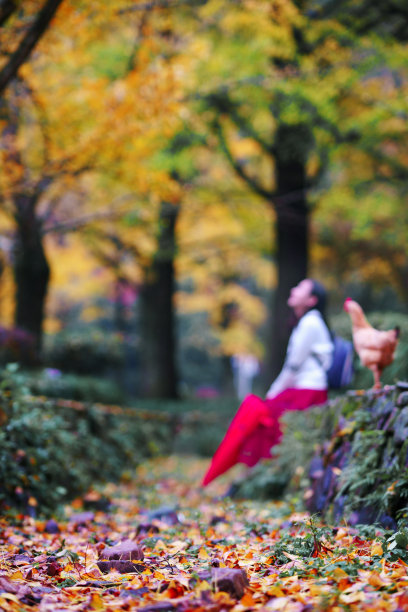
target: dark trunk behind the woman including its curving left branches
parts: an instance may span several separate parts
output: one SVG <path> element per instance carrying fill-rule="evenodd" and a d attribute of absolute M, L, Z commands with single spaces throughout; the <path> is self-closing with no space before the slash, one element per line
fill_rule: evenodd
<path fill-rule="evenodd" d="M 250 133 L 275 162 L 275 191 L 271 191 L 265 189 L 257 178 L 249 175 L 239 160 L 234 158 L 219 118 L 214 119 L 221 147 L 231 166 L 248 187 L 268 201 L 276 212 L 275 261 L 278 283 L 271 309 L 271 338 L 266 360 L 268 382 L 279 373 L 286 352 L 290 335 L 289 309 L 286 302 L 290 289 L 307 276 L 309 209 L 306 194 L 310 185 L 306 166 L 314 146 L 313 132 L 306 123 L 281 122 L 275 133 L 274 144 L 268 145 L 258 137 L 236 109 L 231 107 L 228 98 L 213 96 L 209 101 L 220 113 L 227 111 L 236 125 L 244 133 Z"/>

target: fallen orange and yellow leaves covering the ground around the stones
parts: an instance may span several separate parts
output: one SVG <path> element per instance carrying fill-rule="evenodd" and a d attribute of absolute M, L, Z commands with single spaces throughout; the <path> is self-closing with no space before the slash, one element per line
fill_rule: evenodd
<path fill-rule="evenodd" d="M 30 593 L 50 610 L 116 612 L 128 604 L 144 607 L 163 602 L 176 609 L 191 605 L 202 612 L 293 612 L 305 607 L 335 612 L 345 606 L 374 612 L 406 606 L 407 566 L 401 560 L 387 560 L 379 538 L 357 537 L 355 529 L 344 525 L 336 530 L 330 550 L 320 540 L 319 557 L 286 551 L 287 562 L 280 564 L 273 559 L 274 551 L 285 550 L 285 542 L 306 541 L 310 536 L 308 516 L 291 514 L 289 507 L 274 502 L 219 502 L 214 507 L 214 496 L 225 489 L 226 480 L 220 479 L 211 490 L 199 488 L 205 463 L 173 456 L 141 465 L 135 482 L 108 486 L 115 512 L 98 512 L 95 522 L 80 531 L 60 521 L 62 532 L 55 537 L 44 531 L 42 521 L 21 517 L 16 532 L 2 519 L 2 609 L 28 612 L 32 606 L 24 596 Z M 134 533 L 135 524 L 146 520 L 146 510 L 168 502 L 169 494 L 178 500 L 183 521 L 169 526 L 154 520 L 160 530 L 155 537 L 153 532 L 135 536 L 144 546 L 145 569 L 101 575 L 95 563 L 98 547 L 106 538 L 116 541 Z M 214 516 L 222 520 L 212 521 Z M 18 559 L 21 547 L 26 551 L 24 560 Z M 47 568 L 54 562 L 49 558 L 55 556 L 62 569 L 51 575 Z M 249 586 L 242 596 L 214 588 L 208 577 L 212 564 L 245 568 Z M 200 572 L 205 574 L 200 577 Z"/>

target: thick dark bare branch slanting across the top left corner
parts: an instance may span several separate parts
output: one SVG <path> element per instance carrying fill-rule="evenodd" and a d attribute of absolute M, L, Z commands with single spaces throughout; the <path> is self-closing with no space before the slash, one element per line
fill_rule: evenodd
<path fill-rule="evenodd" d="M 11 55 L 9 61 L 0 72 L 0 95 L 7 85 L 14 79 L 22 64 L 28 59 L 37 42 L 47 30 L 50 21 L 54 17 L 59 5 L 63 0 L 47 0 L 38 13 L 37 19 L 27 31 L 16 51 Z"/>

